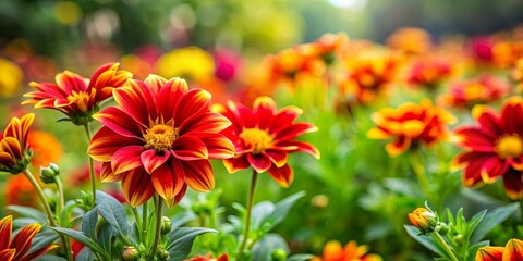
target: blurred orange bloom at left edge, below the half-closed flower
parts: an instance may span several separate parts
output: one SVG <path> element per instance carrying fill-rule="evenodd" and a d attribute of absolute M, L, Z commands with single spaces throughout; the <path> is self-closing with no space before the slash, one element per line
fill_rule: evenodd
<path fill-rule="evenodd" d="M 5 204 L 37 207 L 38 198 L 29 179 L 24 175 L 8 178 L 3 188 Z"/>

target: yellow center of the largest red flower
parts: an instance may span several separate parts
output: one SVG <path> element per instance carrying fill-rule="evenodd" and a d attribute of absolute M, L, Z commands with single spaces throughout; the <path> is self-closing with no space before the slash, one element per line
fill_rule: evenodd
<path fill-rule="evenodd" d="M 171 148 L 172 142 L 178 138 L 178 128 L 172 126 L 157 124 L 147 129 L 144 135 L 145 148 L 163 151 Z"/>

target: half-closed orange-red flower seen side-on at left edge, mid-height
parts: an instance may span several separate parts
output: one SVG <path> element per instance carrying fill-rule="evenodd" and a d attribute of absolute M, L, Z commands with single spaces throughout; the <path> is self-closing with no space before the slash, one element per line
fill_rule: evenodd
<path fill-rule="evenodd" d="M 35 120 L 28 113 L 21 119 L 12 117 L 3 135 L 0 136 L 0 172 L 17 174 L 27 167 L 32 151 L 27 145 L 27 133 Z"/>

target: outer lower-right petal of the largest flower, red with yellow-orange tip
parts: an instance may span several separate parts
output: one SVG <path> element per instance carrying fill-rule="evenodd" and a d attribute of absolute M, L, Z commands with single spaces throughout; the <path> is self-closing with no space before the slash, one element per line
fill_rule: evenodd
<path fill-rule="evenodd" d="M 185 183 L 196 191 L 210 191 L 215 188 L 215 175 L 208 160 L 183 161 Z"/>

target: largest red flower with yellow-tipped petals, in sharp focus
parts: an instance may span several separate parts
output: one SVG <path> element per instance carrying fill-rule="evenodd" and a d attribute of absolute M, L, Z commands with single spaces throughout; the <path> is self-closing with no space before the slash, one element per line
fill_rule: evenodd
<path fill-rule="evenodd" d="M 102 162 L 102 182 L 121 181 L 133 207 L 155 192 L 172 207 L 187 185 L 198 191 L 214 188 L 209 159 L 233 157 L 234 146 L 219 134 L 231 123 L 209 111 L 209 92 L 188 90 L 181 78 L 149 75 L 113 95 L 118 107 L 93 115 L 104 126 L 87 151 Z"/>

